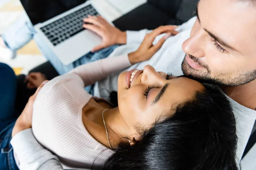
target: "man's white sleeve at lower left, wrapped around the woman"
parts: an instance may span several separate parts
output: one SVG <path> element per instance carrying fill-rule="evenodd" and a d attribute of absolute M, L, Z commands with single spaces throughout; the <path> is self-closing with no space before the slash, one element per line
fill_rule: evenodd
<path fill-rule="evenodd" d="M 20 170 L 63 170 L 58 157 L 38 143 L 32 129 L 26 129 L 11 140 L 20 161 Z"/>

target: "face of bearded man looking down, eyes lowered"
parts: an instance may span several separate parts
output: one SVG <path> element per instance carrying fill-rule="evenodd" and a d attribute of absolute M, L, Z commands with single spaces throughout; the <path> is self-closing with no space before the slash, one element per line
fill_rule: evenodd
<path fill-rule="evenodd" d="M 183 73 L 219 85 L 256 79 L 256 6 L 250 1 L 200 0 L 183 43 Z"/>

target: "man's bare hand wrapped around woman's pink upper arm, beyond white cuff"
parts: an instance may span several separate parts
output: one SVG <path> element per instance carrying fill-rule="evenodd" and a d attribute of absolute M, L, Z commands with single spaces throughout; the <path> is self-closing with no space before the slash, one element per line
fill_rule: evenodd
<path fill-rule="evenodd" d="M 35 102 L 35 98 L 38 95 L 38 92 L 41 90 L 41 88 L 47 83 L 48 80 L 44 81 L 36 90 L 35 94 L 32 95 L 29 98 L 28 103 L 26 104 L 23 112 L 18 117 L 15 126 L 12 130 L 12 137 L 14 137 L 17 133 L 19 133 L 22 130 L 26 130 L 29 128 L 32 128 L 32 114 L 33 114 L 33 105 Z"/>

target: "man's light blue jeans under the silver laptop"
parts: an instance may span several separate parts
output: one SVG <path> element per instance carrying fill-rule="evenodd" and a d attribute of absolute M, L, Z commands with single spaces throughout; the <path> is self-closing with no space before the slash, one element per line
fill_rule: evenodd
<path fill-rule="evenodd" d="M 76 68 L 79 65 L 108 57 L 108 55 L 111 54 L 117 47 L 117 45 L 113 45 L 111 47 L 97 51 L 96 53 L 89 52 L 75 62 L 69 65 L 64 65 L 54 54 L 51 48 L 49 48 L 49 46 L 44 42 L 44 40 L 39 37 L 25 12 L 21 14 L 18 20 L 13 23 L 1 36 L 6 43 L 6 46 L 12 51 L 17 51 L 27 42 L 34 39 L 41 53 L 44 55 L 44 57 L 47 58 L 49 62 L 51 62 L 53 67 L 60 75 L 71 71 L 73 68 Z M 85 90 L 90 93 L 93 93 L 92 89 L 92 86 L 85 88 Z"/>

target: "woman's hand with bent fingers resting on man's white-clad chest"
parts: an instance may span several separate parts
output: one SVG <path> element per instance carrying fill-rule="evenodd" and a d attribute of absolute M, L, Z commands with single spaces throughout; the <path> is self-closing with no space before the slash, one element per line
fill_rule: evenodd
<path fill-rule="evenodd" d="M 151 59 L 151 57 L 162 47 L 165 40 L 167 40 L 171 35 L 179 33 L 178 31 L 175 31 L 175 28 L 177 28 L 177 26 L 160 26 L 151 33 L 146 34 L 137 51 L 128 54 L 131 64 Z M 163 33 L 167 33 L 166 36 L 160 39 L 156 45 L 153 45 L 152 43 L 155 38 Z"/>

